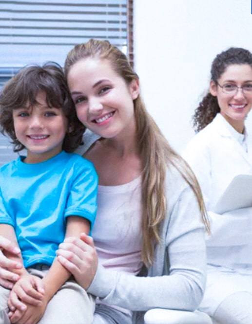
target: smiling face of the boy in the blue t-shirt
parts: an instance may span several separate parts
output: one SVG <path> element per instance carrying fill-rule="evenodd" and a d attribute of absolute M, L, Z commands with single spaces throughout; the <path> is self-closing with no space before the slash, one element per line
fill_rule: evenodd
<path fill-rule="evenodd" d="M 13 110 L 17 139 L 27 149 L 26 163 L 39 163 L 62 151 L 68 121 L 62 109 L 50 108 L 46 95 L 39 92 L 38 105 Z"/>

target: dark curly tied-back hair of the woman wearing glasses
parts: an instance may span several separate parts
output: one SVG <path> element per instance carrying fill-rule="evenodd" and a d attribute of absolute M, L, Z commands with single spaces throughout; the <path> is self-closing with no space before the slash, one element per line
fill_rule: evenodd
<path fill-rule="evenodd" d="M 227 67 L 233 64 L 248 64 L 252 67 L 252 53 L 244 48 L 230 47 L 218 54 L 212 63 L 211 81 L 217 86 L 219 78 Z M 194 111 L 193 127 L 195 132 L 210 124 L 218 112 L 220 112 L 220 108 L 217 98 L 208 92 Z"/>

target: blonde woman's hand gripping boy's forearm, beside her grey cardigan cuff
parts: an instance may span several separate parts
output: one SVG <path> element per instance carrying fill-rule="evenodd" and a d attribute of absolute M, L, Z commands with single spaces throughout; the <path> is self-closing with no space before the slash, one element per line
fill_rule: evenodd
<path fill-rule="evenodd" d="M 82 233 L 79 238 L 66 238 L 59 245 L 58 261 L 70 271 L 75 280 L 85 289 L 93 281 L 98 264 L 93 238 Z"/>

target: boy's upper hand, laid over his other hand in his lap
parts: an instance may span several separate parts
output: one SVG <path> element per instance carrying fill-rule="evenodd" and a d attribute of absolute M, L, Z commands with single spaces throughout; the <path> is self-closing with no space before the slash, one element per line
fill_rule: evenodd
<path fill-rule="evenodd" d="M 42 280 L 36 276 L 30 275 L 29 273 L 25 273 L 12 288 L 8 300 L 8 306 L 11 311 L 16 308 L 23 311 L 25 309 L 25 304 L 31 304 L 34 306 L 40 305 L 43 296 L 44 288 Z"/>

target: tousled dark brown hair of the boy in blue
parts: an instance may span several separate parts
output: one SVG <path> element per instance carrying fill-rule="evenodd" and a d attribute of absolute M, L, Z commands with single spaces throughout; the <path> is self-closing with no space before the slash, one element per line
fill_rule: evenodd
<path fill-rule="evenodd" d="M 38 104 L 36 97 L 41 91 L 46 94 L 48 107 L 62 109 L 66 116 L 70 131 L 65 135 L 62 149 L 74 151 L 82 143 L 85 127 L 77 118 L 63 69 L 55 62 L 24 66 L 5 84 L 0 93 L 1 133 L 11 138 L 15 152 L 24 149 L 15 134 L 12 111 L 27 104 Z"/>

